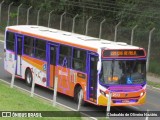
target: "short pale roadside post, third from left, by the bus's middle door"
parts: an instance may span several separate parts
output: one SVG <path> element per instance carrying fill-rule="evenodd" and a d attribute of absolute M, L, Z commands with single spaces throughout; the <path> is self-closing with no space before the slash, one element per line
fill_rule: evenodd
<path fill-rule="evenodd" d="M 57 87 L 58 87 L 58 76 L 55 76 L 55 79 L 54 79 L 53 106 L 56 106 Z"/>

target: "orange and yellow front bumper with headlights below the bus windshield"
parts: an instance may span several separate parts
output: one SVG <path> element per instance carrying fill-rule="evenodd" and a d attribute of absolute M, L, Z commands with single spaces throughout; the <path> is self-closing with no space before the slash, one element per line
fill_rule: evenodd
<path fill-rule="evenodd" d="M 123 86 L 122 86 L 123 87 Z M 132 86 L 131 88 L 135 88 Z M 125 88 L 125 86 L 123 87 Z M 127 87 L 128 89 L 129 87 Z M 129 90 L 129 89 L 128 89 Z M 110 90 L 111 91 L 111 90 Z M 109 90 L 99 85 L 98 89 L 98 105 L 107 106 Z M 128 105 L 142 105 L 146 101 L 146 86 L 139 88 L 139 90 L 126 92 L 111 91 L 111 106 L 128 106 Z"/>

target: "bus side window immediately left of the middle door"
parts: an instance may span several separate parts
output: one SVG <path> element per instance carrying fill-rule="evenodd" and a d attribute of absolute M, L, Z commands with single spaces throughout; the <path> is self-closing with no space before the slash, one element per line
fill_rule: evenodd
<path fill-rule="evenodd" d="M 35 57 L 41 60 L 46 60 L 46 42 L 44 40 L 36 39 Z"/>

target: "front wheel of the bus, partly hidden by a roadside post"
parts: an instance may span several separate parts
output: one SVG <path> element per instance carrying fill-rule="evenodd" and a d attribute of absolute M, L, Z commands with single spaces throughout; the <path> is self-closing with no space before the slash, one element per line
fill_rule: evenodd
<path fill-rule="evenodd" d="M 82 88 L 80 86 L 78 86 L 77 88 L 75 88 L 74 100 L 75 100 L 76 103 L 79 103 L 80 92 L 82 92 L 81 105 L 85 105 L 85 101 L 83 100 L 84 99 L 83 90 L 82 90 Z"/>

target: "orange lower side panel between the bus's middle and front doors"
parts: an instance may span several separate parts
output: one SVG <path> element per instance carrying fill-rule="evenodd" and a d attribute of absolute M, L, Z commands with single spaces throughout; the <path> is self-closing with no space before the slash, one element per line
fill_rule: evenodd
<path fill-rule="evenodd" d="M 74 97 L 75 86 L 79 84 L 86 94 L 86 74 L 62 66 L 58 66 L 57 70 L 59 92 Z"/>

